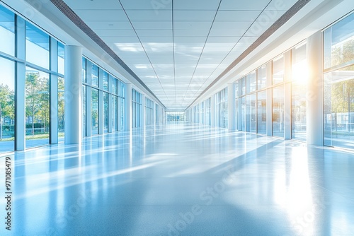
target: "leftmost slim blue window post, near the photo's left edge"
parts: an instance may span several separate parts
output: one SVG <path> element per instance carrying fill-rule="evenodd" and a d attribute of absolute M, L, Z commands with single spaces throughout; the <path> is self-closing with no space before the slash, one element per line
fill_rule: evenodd
<path fill-rule="evenodd" d="M 25 60 L 25 20 L 16 16 L 16 56 Z M 16 116 L 15 150 L 25 150 L 25 64 L 18 61 L 16 66 Z"/>

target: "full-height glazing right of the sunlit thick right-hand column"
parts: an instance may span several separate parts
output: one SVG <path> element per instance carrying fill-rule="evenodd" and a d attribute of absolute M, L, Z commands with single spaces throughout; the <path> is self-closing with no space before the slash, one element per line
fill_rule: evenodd
<path fill-rule="evenodd" d="M 324 32 L 324 144 L 354 146 L 354 13 Z"/>

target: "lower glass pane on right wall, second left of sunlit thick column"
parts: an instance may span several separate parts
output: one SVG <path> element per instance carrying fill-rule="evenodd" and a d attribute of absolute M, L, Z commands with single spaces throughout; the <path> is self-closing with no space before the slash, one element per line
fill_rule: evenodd
<path fill-rule="evenodd" d="M 273 136 L 284 137 L 284 85 L 273 88 Z"/>

